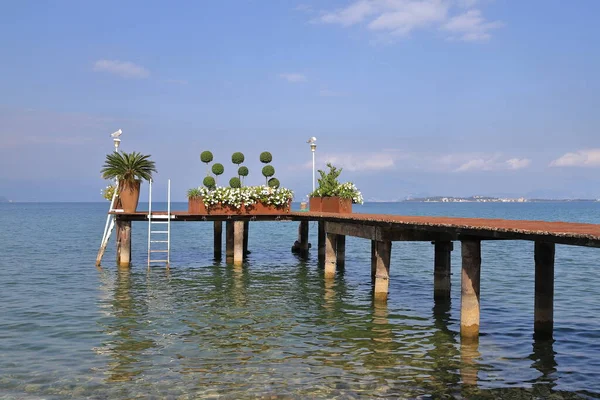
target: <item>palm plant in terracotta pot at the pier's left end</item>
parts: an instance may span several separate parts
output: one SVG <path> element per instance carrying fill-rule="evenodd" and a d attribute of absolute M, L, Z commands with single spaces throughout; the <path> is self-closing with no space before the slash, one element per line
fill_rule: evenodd
<path fill-rule="evenodd" d="M 123 211 L 133 213 L 140 198 L 142 180 L 152 179 L 152 173 L 157 172 L 150 155 L 138 152 L 113 152 L 106 155 L 104 166 L 100 170 L 104 179 L 119 181 L 119 198 Z"/>

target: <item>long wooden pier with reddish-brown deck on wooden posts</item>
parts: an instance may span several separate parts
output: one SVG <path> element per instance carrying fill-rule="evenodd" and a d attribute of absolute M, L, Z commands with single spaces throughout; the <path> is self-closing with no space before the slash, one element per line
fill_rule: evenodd
<path fill-rule="evenodd" d="M 158 213 L 160 214 L 160 213 Z M 461 317 L 463 340 L 478 340 L 480 311 L 481 242 L 484 240 L 527 240 L 533 242 L 535 268 L 534 335 L 550 338 L 553 331 L 554 251 L 556 244 L 600 247 L 600 225 L 502 219 L 395 216 L 375 214 L 328 214 L 295 212 L 276 215 L 207 215 L 173 212 L 172 222 L 211 221 L 214 224 L 215 258 L 222 255 L 225 222 L 226 258 L 240 265 L 248 251 L 250 222 L 298 221 L 298 237 L 292 250 L 310 251 L 308 223 L 318 222 L 317 252 L 325 279 L 333 279 L 345 262 L 346 236 L 371 241 L 371 277 L 376 301 L 386 301 L 389 291 L 392 242 L 426 241 L 434 244 L 434 301 L 450 300 L 451 257 L 454 242 L 460 242 Z M 131 222 L 147 221 L 147 213 L 116 214 L 117 264 L 128 267 L 131 260 Z M 367 267 L 367 266 L 365 266 Z"/>

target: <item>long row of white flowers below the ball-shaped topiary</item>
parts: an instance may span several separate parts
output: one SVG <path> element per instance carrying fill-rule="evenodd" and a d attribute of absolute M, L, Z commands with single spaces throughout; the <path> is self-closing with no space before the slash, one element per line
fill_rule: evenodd
<path fill-rule="evenodd" d="M 269 186 L 244 186 L 241 188 L 218 186 L 212 190 L 206 187 L 198 189 L 204 204 L 209 208 L 221 204 L 241 209 L 256 203 L 284 207 L 294 198 L 294 193 L 289 189 Z"/>

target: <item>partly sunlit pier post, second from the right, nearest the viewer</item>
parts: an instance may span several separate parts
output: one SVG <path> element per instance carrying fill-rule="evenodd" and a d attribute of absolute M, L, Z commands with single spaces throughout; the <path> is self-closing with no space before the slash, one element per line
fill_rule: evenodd
<path fill-rule="evenodd" d="M 460 336 L 462 340 L 479 340 L 479 282 L 481 276 L 481 241 L 463 240 Z"/>

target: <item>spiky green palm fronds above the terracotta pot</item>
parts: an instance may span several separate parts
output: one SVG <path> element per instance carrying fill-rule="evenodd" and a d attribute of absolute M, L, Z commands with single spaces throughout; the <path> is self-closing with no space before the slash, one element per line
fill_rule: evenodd
<path fill-rule="evenodd" d="M 118 179 L 125 185 L 133 185 L 137 181 L 152 179 L 156 171 L 154 161 L 150 155 L 138 152 L 125 153 L 113 152 L 106 155 L 104 165 L 100 170 L 104 179 Z"/>

